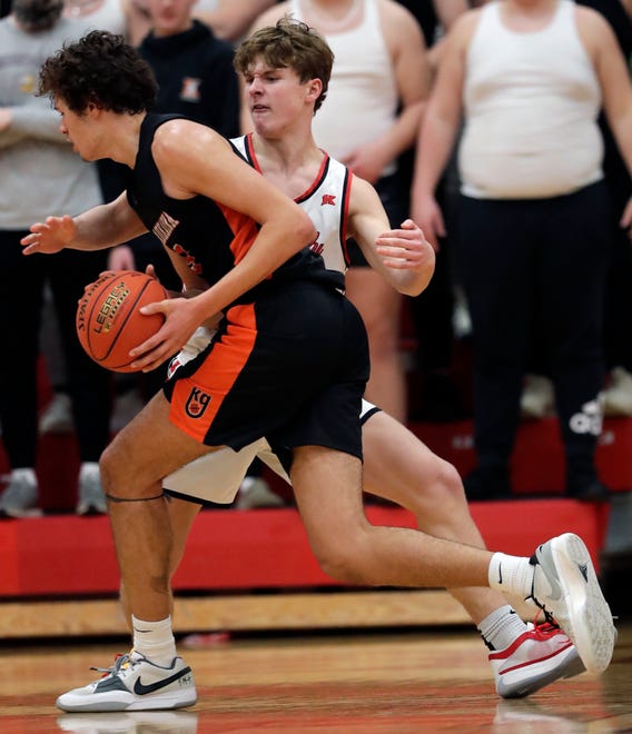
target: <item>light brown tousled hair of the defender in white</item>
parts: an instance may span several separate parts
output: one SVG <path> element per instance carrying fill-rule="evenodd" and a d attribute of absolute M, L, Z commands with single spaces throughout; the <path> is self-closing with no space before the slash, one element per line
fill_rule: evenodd
<path fill-rule="evenodd" d="M 255 31 L 241 42 L 235 54 L 235 69 L 241 76 L 263 59 L 270 69 L 293 69 L 302 82 L 320 79 L 323 91 L 314 105 L 316 111 L 327 97 L 334 52 L 314 28 L 284 16 L 276 26 Z"/>

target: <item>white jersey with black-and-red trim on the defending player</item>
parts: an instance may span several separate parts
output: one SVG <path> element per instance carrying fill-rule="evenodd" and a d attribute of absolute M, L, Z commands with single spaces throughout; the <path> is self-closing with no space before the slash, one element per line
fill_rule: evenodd
<path fill-rule="evenodd" d="M 231 138 L 230 142 L 246 162 L 261 173 L 251 133 Z M 325 153 L 312 186 L 294 199 L 307 212 L 318 232 L 312 249 L 323 256 L 326 268 L 343 274 L 348 267 L 346 227 L 352 179 L 353 173 L 346 166 Z"/>

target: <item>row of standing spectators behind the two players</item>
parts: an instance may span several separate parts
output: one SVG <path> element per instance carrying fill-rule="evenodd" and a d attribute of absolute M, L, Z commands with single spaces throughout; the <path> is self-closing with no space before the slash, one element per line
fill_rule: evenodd
<path fill-rule="evenodd" d="M 20 365 L 7 360 L 0 383 L 11 469 L 1 514 L 41 513 L 36 464 L 42 356 L 55 393 L 39 430 L 76 432 L 76 509 L 106 512 L 99 456 L 111 434 L 160 389 L 169 360 L 131 380 L 105 373 L 73 338 L 75 304 L 82 285 L 106 268 L 144 270 L 151 264 L 168 288 L 180 287 L 152 234 L 109 256 L 65 255 L 78 258 L 69 265 L 33 264 L 16 250 L 40 198 L 43 207 L 57 201 L 59 209 L 78 212 L 93 197 L 113 200 L 126 176 L 110 160 L 78 160 L 56 140 L 57 113 L 21 79 L 34 80 L 47 50 L 62 41 L 89 29 L 110 30 L 150 63 L 159 87 L 156 111 L 185 115 L 231 138 L 253 126 L 240 103 L 235 50 L 286 13 L 322 32 L 336 59 L 328 101 L 314 118 L 318 145 L 375 186 L 393 227 L 409 214 L 435 249 L 431 282 L 409 296 L 368 266 L 353 238 L 346 242 L 346 294 L 368 333 L 366 397 L 404 424 L 411 413 L 431 419 L 471 414 L 477 464 L 465 478 L 470 499 L 511 497 L 520 420 L 556 414 L 566 494 L 609 498 L 594 462 L 603 415 L 632 414 L 625 338 L 632 257 L 630 216 L 623 214 L 632 157 L 622 121 L 632 53 L 626 2 L 17 0 L 3 12 L 1 52 L 9 57 L 22 41 L 32 51 L 17 67 L 4 65 L 0 79 L 0 160 L 7 171 L 0 234 L 11 284 L 4 292 L 7 302 L 24 304 L 29 318 L 18 344 Z M 567 60 L 554 73 L 546 54 L 559 59 L 562 51 Z M 52 200 L 31 186 L 46 157 L 60 169 L 51 179 Z M 33 284 L 28 300 L 18 292 L 24 276 Z M 423 376 L 422 406 L 407 395 L 403 309 L 415 328 L 412 370 Z M 460 309 L 470 324 L 473 364 L 466 396 L 452 379 Z M 126 395 L 136 397 L 132 409 L 117 418 Z M 240 506 L 285 502 L 260 474 L 257 459 L 243 483 Z"/>

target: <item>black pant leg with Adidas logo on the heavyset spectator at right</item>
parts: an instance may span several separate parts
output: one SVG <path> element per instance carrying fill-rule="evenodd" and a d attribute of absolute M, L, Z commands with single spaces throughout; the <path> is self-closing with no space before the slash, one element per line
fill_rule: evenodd
<path fill-rule="evenodd" d="M 551 199 L 540 236 L 539 292 L 549 316 L 555 404 L 566 457 L 566 494 L 604 500 L 595 452 L 602 430 L 603 302 L 610 260 L 610 201 L 603 181 Z"/>

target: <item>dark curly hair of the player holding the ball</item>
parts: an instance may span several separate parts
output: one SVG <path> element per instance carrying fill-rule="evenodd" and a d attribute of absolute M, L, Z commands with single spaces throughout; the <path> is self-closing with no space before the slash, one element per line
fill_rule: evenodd
<path fill-rule="evenodd" d="M 89 105 L 137 115 L 154 107 L 157 93 L 151 67 L 122 36 L 103 30 L 66 42 L 39 75 L 38 95 L 60 97 L 78 115 Z"/>

